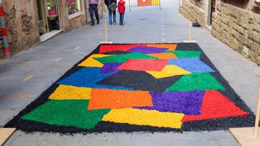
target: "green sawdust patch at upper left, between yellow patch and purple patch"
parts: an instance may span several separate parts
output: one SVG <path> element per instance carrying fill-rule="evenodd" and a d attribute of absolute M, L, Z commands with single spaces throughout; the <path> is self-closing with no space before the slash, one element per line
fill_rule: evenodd
<path fill-rule="evenodd" d="M 118 55 L 105 56 L 105 57 L 94 58 L 94 59 L 104 64 L 104 63 L 113 63 L 113 62 L 126 62 L 130 58 L 131 59 L 159 59 L 140 52 L 118 54 Z"/>

